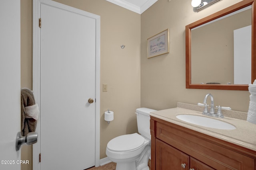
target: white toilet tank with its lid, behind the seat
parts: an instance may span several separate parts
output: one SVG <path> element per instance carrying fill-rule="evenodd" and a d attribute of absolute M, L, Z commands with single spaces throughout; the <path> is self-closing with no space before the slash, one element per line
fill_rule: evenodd
<path fill-rule="evenodd" d="M 148 109 L 145 107 L 136 109 L 137 114 L 137 125 L 138 125 L 138 132 L 151 140 L 150 135 L 150 115 L 149 113 L 152 111 L 156 111 L 154 109 Z"/>

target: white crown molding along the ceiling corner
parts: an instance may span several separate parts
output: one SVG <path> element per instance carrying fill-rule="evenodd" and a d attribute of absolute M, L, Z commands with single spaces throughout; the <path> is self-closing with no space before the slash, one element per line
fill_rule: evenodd
<path fill-rule="evenodd" d="M 158 0 L 148 0 L 142 6 L 136 6 L 130 2 L 126 2 L 124 0 L 106 0 L 106 1 L 116 4 L 118 6 L 121 6 L 123 8 L 126 8 L 128 10 L 131 10 L 133 12 L 136 12 L 138 14 L 142 14 L 144 11 L 146 11 L 150 6 L 152 6 Z"/>

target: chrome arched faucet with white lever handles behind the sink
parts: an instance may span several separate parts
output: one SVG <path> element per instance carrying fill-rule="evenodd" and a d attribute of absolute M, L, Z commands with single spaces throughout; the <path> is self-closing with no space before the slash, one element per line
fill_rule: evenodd
<path fill-rule="evenodd" d="M 211 109 L 210 112 L 208 111 L 208 106 L 207 105 L 207 98 L 208 96 L 210 96 L 211 98 Z M 204 111 L 203 111 L 203 115 L 208 115 L 208 116 L 213 116 L 213 117 L 224 117 L 224 115 L 221 112 L 221 109 L 225 109 L 225 110 L 231 110 L 230 107 L 220 107 L 220 106 L 216 106 L 216 108 L 218 108 L 218 111 L 215 113 L 214 112 L 214 100 L 213 100 L 213 96 L 212 94 L 208 93 L 206 94 L 205 98 L 204 98 L 204 102 L 203 103 L 198 103 L 198 106 L 204 106 Z"/>

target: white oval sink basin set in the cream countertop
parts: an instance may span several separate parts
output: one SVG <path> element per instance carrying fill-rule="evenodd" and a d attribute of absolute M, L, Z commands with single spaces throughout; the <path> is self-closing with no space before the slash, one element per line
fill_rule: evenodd
<path fill-rule="evenodd" d="M 226 123 L 224 121 L 212 119 L 210 117 L 203 117 L 199 115 L 177 115 L 176 116 L 178 119 L 182 121 L 186 121 L 188 123 L 192 123 L 195 125 L 199 126 L 204 126 L 204 127 L 211 127 L 215 129 L 225 129 L 225 130 L 232 130 L 236 129 L 235 126 Z"/>

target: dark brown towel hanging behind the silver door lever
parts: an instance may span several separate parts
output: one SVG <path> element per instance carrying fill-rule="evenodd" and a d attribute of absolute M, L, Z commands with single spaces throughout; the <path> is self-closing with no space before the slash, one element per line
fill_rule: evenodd
<path fill-rule="evenodd" d="M 31 90 L 25 88 L 21 90 L 21 133 L 26 136 L 29 132 L 36 131 L 36 120 L 33 118 L 26 118 L 25 107 L 36 104 L 34 95 Z"/>

